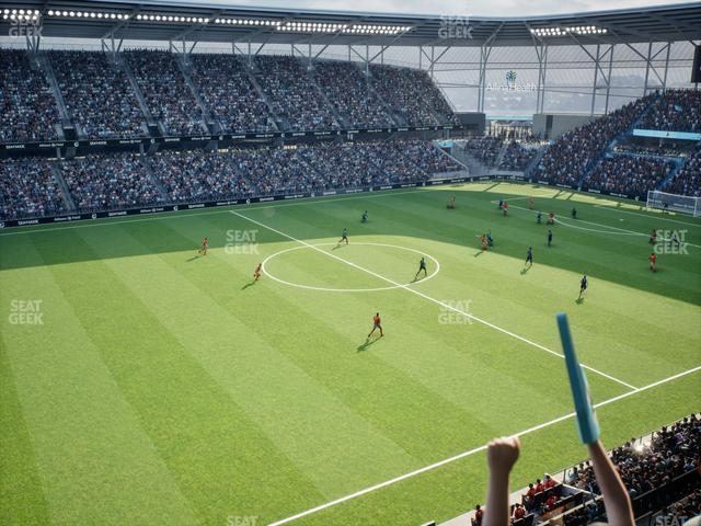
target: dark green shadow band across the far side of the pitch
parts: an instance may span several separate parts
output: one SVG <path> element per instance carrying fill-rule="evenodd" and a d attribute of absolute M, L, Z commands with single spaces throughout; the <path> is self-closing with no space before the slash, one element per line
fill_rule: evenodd
<path fill-rule="evenodd" d="M 382 201 L 365 201 L 358 196 L 357 201 L 348 203 L 337 203 L 335 199 L 320 199 L 319 206 L 312 207 L 312 202 L 308 206 L 295 206 L 281 208 L 285 215 L 271 222 L 272 227 L 280 228 L 283 231 L 294 235 L 301 241 L 325 239 L 332 242 L 337 241 L 337 232 L 347 225 L 348 220 L 357 220 L 358 210 L 371 208 L 374 210 L 374 219 L 371 224 L 366 225 L 364 236 L 404 237 L 416 242 L 428 240 L 430 242 L 443 242 L 456 248 L 466 248 L 466 226 L 470 225 L 470 230 L 486 231 L 489 228 L 497 232 L 499 238 L 499 255 L 514 259 L 514 265 L 517 261 L 524 261 L 522 254 L 526 245 L 533 244 L 542 247 L 544 233 L 543 229 L 548 227 L 545 222 L 547 216 L 543 216 L 541 225 L 535 221 L 533 210 L 521 210 L 514 208 L 509 210 L 510 220 L 503 221 L 494 215 L 492 210 L 498 213 L 496 205 L 492 201 L 510 197 L 522 197 L 524 190 L 516 192 L 512 187 L 503 187 L 502 185 L 486 185 L 487 190 L 480 192 L 464 192 L 459 196 L 461 206 L 457 210 L 446 210 L 446 202 L 452 197 L 456 192 L 451 190 L 432 190 L 422 193 L 398 193 L 388 194 L 388 199 Z M 538 188 L 540 186 L 527 185 L 520 186 Z M 544 187 L 544 186 L 543 186 Z M 491 190 L 489 190 L 491 188 Z M 516 192 L 516 193 L 515 193 Z M 566 195 L 570 195 L 568 192 Z M 558 191 L 558 196 L 562 201 L 549 197 L 539 197 L 539 208 L 551 210 L 560 217 L 568 218 L 572 208 L 572 201 L 565 201 L 565 194 Z M 582 194 L 577 194 L 582 195 Z M 367 195 L 367 198 L 375 198 L 377 195 Z M 594 208 L 594 204 L 605 204 L 612 206 L 613 201 L 618 201 L 608 196 L 595 197 L 587 194 L 587 202 L 577 203 L 577 209 L 581 217 L 587 217 L 596 224 L 602 226 L 613 226 L 616 216 L 611 211 L 601 211 L 600 214 Z M 620 201 L 619 201 L 620 202 Z M 313 202 L 314 204 L 317 201 Z M 334 211 L 326 208 L 334 203 Z M 381 203 L 381 206 L 379 206 Z M 518 202 L 515 202 L 518 203 Z M 640 203 L 624 201 L 625 206 Z M 299 202 L 299 205 L 306 205 Z M 515 206 L 520 206 L 515 205 Z M 261 210 L 252 206 L 251 213 Z M 175 214 L 154 215 L 148 218 L 127 219 L 112 218 L 110 220 L 100 220 L 100 222 L 80 221 L 70 226 L 43 226 L 34 227 L 25 230 L 24 228 L 12 229 L 12 231 L 0 232 L 0 271 L 25 268 L 36 266 L 48 266 L 54 264 L 66 264 L 83 261 L 100 261 L 126 256 L 140 256 L 153 254 L 173 254 L 181 263 L 189 259 L 194 262 L 203 255 L 192 254 L 194 248 L 202 239 L 204 231 L 215 232 L 210 236 L 210 248 L 212 250 L 227 247 L 228 238 L 226 233 L 232 227 L 232 216 L 227 208 L 222 207 L 218 210 L 207 211 L 179 211 Z M 281 225 L 279 221 L 289 217 L 299 221 L 299 224 Z M 244 219 L 237 218 L 240 221 L 240 228 L 249 228 L 251 225 Z M 243 222 L 245 221 L 245 222 Z M 268 221 L 268 219 L 265 219 Z M 636 224 L 632 227 L 640 230 L 641 233 L 648 233 L 658 221 L 658 217 L 641 217 L 635 219 Z M 237 225 L 239 225 L 237 222 Z M 698 224 L 701 227 L 701 222 Z M 696 227 L 697 224 L 693 224 Z M 84 228 L 91 227 L 91 228 Z M 95 228 L 92 228 L 95 227 Z M 501 232 L 497 229 L 502 229 Z M 550 227 L 552 228 L 552 227 Z M 214 230 L 212 230 L 214 229 Z M 553 229 L 554 230 L 554 229 Z M 547 231 L 547 230 L 545 230 Z M 83 233 L 84 232 L 84 233 Z M 95 232 L 95 233 L 92 233 Z M 591 277 L 598 277 L 609 282 L 614 282 L 627 287 L 644 290 L 645 293 L 654 293 L 660 296 L 679 299 L 699 305 L 698 287 L 689 287 L 681 284 L 681 281 L 673 281 L 671 276 L 677 271 L 686 271 L 696 273 L 692 265 L 686 264 L 686 261 L 676 260 L 669 263 L 660 275 L 645 272 L 646 266 L 632 267 L 629 258 L 632 253 L 639 253 L 641 262 L 644 263 L 647 238 L 616 238 L 610 233 L 590 232 L 589 235 L 581 235 L 575 230 L 560 230 L 562 238 L 559 238 L 558 245 L 548 251 L 548 255 L 540 261 L 541 268 L 556 267 L 564 271 L 571 271 L 576 274 L 586 272 Z M 125 238 L 125 235 L 127 238 Z M 134 238 L 137 243 L 130 242 L 128 237 Z M 126 239 L 126 241 L 125 241 Z M 27 241 L 30 240 L 30 241 Z M 267 243 L 278 243 L 280 236 L 262 229 L 260 239 L 256 241 L 261 247 Z M 285 241 L 289 241 L 285 238 Z M 33 244 L 37 250 L 25 250 L 26 243 Z M 609 260 L 606 264 L 597 258 L 591 258 L 596 252 L 596 247 L 605 245 Z M 341 248 L 338 245 L 337 248 Z M 468 252 L 474 250 L 474 244 L 467 244 Z M 594 249 L 593 249 L 594 248 Z M 479 247 L 478 247 L 479 250 Z M 593 252 L 594 250 L 594 252 Z M 476 251 L 475 251 L 476 252 Z M 334 254 L 343 254 L 334 251 Z M 481 252 L 474 253 L 479 256 Z M 183 258 L 184 260 L 181 259 Z M 191 255 L 187 255 L 191 254 Z M 216 255 L 215 255 L 216 256 Z M 693 253 L 690 261 L 696 260 Z M 617 260 L 618 259 L 618 260 Z M 618 263 L 621 264 L 618 264 Z M 518 268 L 518 266 L 516 266 Z M 696 274 L 694 274 L 696 275 Z M 249 279 L 249 271 L 245 271 L 245 278 L 238 283 L 245 283 Z"/>

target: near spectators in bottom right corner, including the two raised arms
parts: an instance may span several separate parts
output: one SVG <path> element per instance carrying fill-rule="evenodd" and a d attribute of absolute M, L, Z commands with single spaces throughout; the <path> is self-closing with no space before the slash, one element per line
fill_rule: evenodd
<path fill-rule="evenodd" d="M 489 443 L 486 508 L 475 506 L 471 514 L 472 526 L 542 522 L 585 526 L 602 524 L 597 521 L 604 515 L 609 524 L 632 526 L 647 512 L 655 517 L 658 511 L 662 513 L 655 524 L 669 525 L 683 524 L 701 514 L 698 478 L 689 474 L 699 469 L 701 460 L 701 418 L 696 413 L 662 427 L 648 439 L 632 438 L 610 453 L 600 441 L 588 443 L 590 459 L 567 470 L 562 483 L 545 474 L 543 480 L 528 484 L 520 502 L 509 505 L 509 472 L 519 449 L 520 442 L 516 437 L 495 438 Z M 658 491 L 648 493 L 655 490 Z M 579 505 L 572 508 L 570 504 L 577 502 Z M 662 507 L 669 502 L 674 504 Z M 645 522 L 651 519 L 645 518 Z"/>

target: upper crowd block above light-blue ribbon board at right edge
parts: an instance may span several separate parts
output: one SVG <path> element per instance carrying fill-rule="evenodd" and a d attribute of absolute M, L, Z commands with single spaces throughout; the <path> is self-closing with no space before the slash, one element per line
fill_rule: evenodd
<path fill-rule="evenodd" d="M 657 94 L 641 127 L 670 132 L 701 132 L 701 91 L 666 90 Z"/>

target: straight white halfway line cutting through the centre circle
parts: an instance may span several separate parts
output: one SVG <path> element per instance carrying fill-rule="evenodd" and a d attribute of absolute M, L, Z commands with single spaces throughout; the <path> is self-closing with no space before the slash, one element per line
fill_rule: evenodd
<path fill-rule="evenodd" d="M 472 320 L 474 320 L 474 321 L 476 321 L 476 322 L 479 322 L 479 323 L 482 323 L 482 324 L 484 324 L 484 325 L 486 325 L 486 327 L 490 327 L 490 328 L 494 329 L 495 331 L 498 331 L 498 332 L 502 332 L 502 333 L 504 333 L 504 334 L 507 334 L 507 335 L 509 335 L 509 336 L 512 336 L 512 338 L 515 338 L 516 340 L 520 340 L 520 341 L 521 341 L 521 342 L 524 342 L 524 343 L 527 343 L 527 344 L 529 344 L 529 345 L 532 345 L 533 347 L 538 347 L 538 348 L 540 348 L 541 351 L 545 351 L 547 353 L 550 353 L 550 354 L 552 354 L 552 355 L 554 355 L 554 356 L 558 356 L 558 357 L 560 357 L 560 358 L 562 358 L 562 359 L 564 359 L 564 355 L 563 355 L 563 354 L 560 354 L 560 353 L 558 353 L 558 352 L 555 352 L 555 351 L 552 351 L 551 348 L 548 348 L 548 347 L 545 347 L 544 345 L 541 345 L 540 343 L 536 343 L 536 342 L 533 342 L 533 341 L 531 341 L 531 340 L 528 340 L 528 339 L 526 339 L 526 338 L 524 338 L 524 336 L 520 336 L 520 335 L 515 334 L 515 333 L 513 333 L 513 332 L 510 332 L 510 331 L 507 331 L 506 329 L 503 329 L 503 328 L 501 328 L 501 327 L 498 327 L 498 325 L 495 325 L 494 323 L 490 323 L 490 322 L 489 322 L 489 321 L 486 321 L 486 320 L 483 320 L 483 319 L 481 319 L 481 318 L 478 318 L 476 316 L 473 316 L 473 315 L 471 315 L 471 313 L 469 313 L 469 312 L 466 312 L 466 311 L 460 310 L 460 309 L 458 309 L 458 308 L 456 308 L 456 307 L 452 307 L 451 305 L 448 305 L 448 304 L 446 304 L 446 302 L 444 302 L 444 301 L 440 301 L 440 300 L 438 300 L 438 299 L 432 298 L 430 296 L 427 296 L 427 295 L 425 295 L 424 293 L 421 293 L 421 291 L 418 291 L 418 290 L 416 290 L 416 289 L 414 289 L 414 288 L 411 288 L 411 287 L 410 287 L 410 286 L 407 286 L 407 285 L 404 285 L 404 284 L 398 283 L 398 282 L 395 282 L 395 281 L 393 281 L 393 279 L 390 279 L 389 277 L 381 276 L 380 274 L 377 274 L 376 272 L 372 272 L 372 271 L 370 271 L 369 268 L 365 268 L 364 266 L 357 265 L 356 263 L 353 263 L 352 261 L 344 260 L 343 258 L 341 258 L 341 256 L 338 256 L 338 255 L 336 255 L 336 254 L 332 254 L 331 252 L 327 252 L 327 251 L 325 251 L 325 250 L 322 250 L 322 249 L 320 249 L 320 248 L 318 248 L 318 247 L 315 247 L 315 245 L 313 245 L 313 244 L 310 244 L 310 243 L 308 243 L 308 242 L 306 242 L 306 241 L 302 241 L 302 240 L 300 240 L 300 239 L 294 238 L 294 237 L 291 237 L 291 236 L 290 236 L 290 235 L 288 235 L 288 233 L 285 233 L 285 232 L 283 232 L 283 231 L 280 231 L 280 230 L 277 230 L 276 228 L 273 228 L 273 227 L 271 227 L 271 226 L 268 226 L 268 225 L 265 225 L 265 224 L 263 224 L 263 222 L 256 221 L 255 219 L 252 219 L 252 218 L 250 218 L 250 217 L 246 217 L 246 216 L 244 216 L 243 214 L 239 214 L 238 211 L 234 211 L 234 210 L 229 210 L 229 211 L 231 211 L 231 214 L 233 214 L 234 216 L 239 216 L 240 218 L 245 219 L 246 221 L 251 221 L 251 222 L 253 222 L 253 224 L 255 224 L 255 225 L 257 225 L 257 226 L 260 226 L 260 227 L 263 227 L 263 228 L 265 228 L 265 229 L 267 229 L 267 230 L 271 230 L 272 232 L 275 232 L 275 233 L 277 233 L 278 236 L 281 236 L 281 237 L 287 238 L 287 239 L 289 239 L 289 240 L 291 240 L 291 241 L 295 241 L 295 242 L 297 242 L 297 243 L 299 243 L 299 244 L 302 244 L 302 245 L 308 247 L 308 248 L 310 248 L 310 249 L 312 249 L 312 250 L 315 250 L 315 251 L 318 251 L 318 252 L 321 252 L 322 254 L 325 254 L 325 255 L 327 255 L 329 258 L 332 258 L 332 259 L 334 259 L 334 260 L 336 260 L 336 261 L 340 261 L 340 262 L 342 262 L 342 263 L 345 263 L 346 265 L 349 265 L 349 266 L 352 266 L 352 267 L 354 267 L 354 268 L 357 268 L 358 271 L 363 271 L 363 272 L 365 272 L 365 273 L 367 273 L 367 274 L 370 274 L 371 276 L 375 276 L 375 277 L 377 277 L 377 278 L 379 278 L 379 279 L 382 279 L 382 281 L 384 281 L 384 282 L 387 282 L 387 283 L 390 283 L 390 284 L 394 285 L 397 288 L 403 288 L 404 290 L 407 290 L 407 291 L 410 291 L 410 293 L 412 293 L 412 294 L 415 294 L 416 296 L 420 296 L 420 297 L 422 297 L 422 298 L 424 298 L 424 299 L 427 299 L 428 301 L 432 301 L 432 302 L 434 302 L 434 304 L 436 304 L 436 305 L 439 305 L 440 307 L 443 307 L 443 308 L 445 308 L 445 309 L 452 310 L 453 312 L 457 312 L 457 313 L 459 313 L 459 315 L 461 315 L 461 316 L 464 316 L 464 317 L 467 317 L 467 318 L 470 318 L 470 319 L 472 319 Z M 628 384 L 628 382 L 625 382 L 625 381 L 623 381 L 623 380 L 620 380 L 620 379 L 618 379 L 618 378 L 616 378 L 616 377 L 613 377 L 613 376 L 611 376 L 611 375 L 608 375 L 608 374 L 606 374 L 606 373 L 604 373 L 604 371 L 601 371 L 601 370 L 595 369 L 594 367 L 589 367 L 588 365 L 585 365 L 585 364 L 579 364 L 579 365 L 582 365 L 582 367 L 584 367 L 585 369 L 590 370 L 591 373 L 595 373 L 595 374 L 597 374 L 597 375 L 599 375 L 599 376 L 602 376 L 602 377 L 605 377 L 605 378 L 608 378 L 609 380 L 616 381 L 616 382 L 618 382 L 618 384 L 620 384 L 620 385 L 622 385 L 622 386 L 625 386 L 625 387 L 627 387 L 627 388 L 629 388 L 629 389 L 632 389 L 632 390 L 637 389 L 635 386 L 632 386 L 632 385 L 630 385 L 630 384 Z"/>

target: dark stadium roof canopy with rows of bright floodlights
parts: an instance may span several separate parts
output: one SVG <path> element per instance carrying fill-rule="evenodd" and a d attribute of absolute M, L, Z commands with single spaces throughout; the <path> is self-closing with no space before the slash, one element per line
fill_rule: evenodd
<path fill-rule="evenodd" d="M 297 45 L 532 46 L 701 38 L 701 2 L 522 18 L 242 8 L 207 2 L 24 0 L 2 2 L 8 34 L 24 10 L 44 37 Z M 38 20 L 37 19 L 37 20 Z"/>

